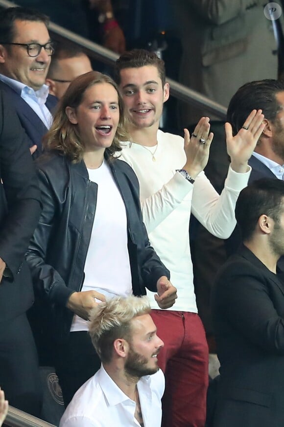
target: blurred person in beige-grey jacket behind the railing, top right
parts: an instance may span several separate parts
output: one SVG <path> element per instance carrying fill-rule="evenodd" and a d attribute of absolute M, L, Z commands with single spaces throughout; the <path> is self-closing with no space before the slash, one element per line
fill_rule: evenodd
<path fill-rule="evenodd" d="M 273 22 L 260 0 L 177 0 L 183 45 L 180 82 L 227 107 L 247 81 L 276 79 L 277 42 Z M 181 103 L 181 128 L 206 110 Z M 213 116 L 211 116 L 213 119 Z"/>

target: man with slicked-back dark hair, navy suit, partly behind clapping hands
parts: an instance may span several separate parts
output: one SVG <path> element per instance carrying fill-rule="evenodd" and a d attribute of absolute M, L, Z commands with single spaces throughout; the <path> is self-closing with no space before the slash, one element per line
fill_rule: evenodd
<path fill-rule="evenodd" d="M 260 178 L 284 180 L 284 81 L 251 81 L 237 90 L 227 112 L 234 134 L 242 127 L 242 119 L 250 108 L 262 109 L 266 126 L 248 161 L 252 167 L 248 184 Z M 235 253 L 240 242 L 240 232 L 236 228 L 225 242 L 227 254 Z M 284 258 L 280 259 L 279 266 L 284 270 Z"/>

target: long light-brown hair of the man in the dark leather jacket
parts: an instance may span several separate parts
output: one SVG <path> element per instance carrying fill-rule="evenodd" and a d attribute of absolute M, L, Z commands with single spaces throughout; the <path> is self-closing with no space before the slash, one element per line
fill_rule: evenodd
<path fill-rule="evenodd" d="M 99 83 L 111 84 L 118 93 L 118 129 L 112 145 L 106 148 L 106 151 L 111 156 L 114 155 L 115 152 L 121 151 L 119 142 L 129 140 L 129 135 L 125 131 L 125 113 L 122 97 L 114 80 L 97 71 L 89 71 L 89 73 L 82 74 L 71 81 L 70 86 L 58 103 L 51 128 L 43 138 L 43 145 L 46 150 L 59 151 L 73 162 L 79 162 L 82 160 L 84 146 L 81 142 L 78 126 L 70 122 L 66 114 L 66 107 L 74 109 L 79 107 L 82 103 L 86 90 Z"/>

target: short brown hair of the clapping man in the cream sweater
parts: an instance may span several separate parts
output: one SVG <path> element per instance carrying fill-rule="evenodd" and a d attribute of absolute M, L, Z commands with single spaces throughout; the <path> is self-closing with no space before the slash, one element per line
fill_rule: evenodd
<path fill-rule="evenodd" d="M 132 51 L 122 53 L 116 61 L 114 79 L 120 84 L 120 70 L 124 68 L 140 68 L 145 65 L 153 65 L 157 68 L 164 87 L 166 83 L 165 62 L 156 53 L 145 51 L 144 49 L 133 49 Z"/>

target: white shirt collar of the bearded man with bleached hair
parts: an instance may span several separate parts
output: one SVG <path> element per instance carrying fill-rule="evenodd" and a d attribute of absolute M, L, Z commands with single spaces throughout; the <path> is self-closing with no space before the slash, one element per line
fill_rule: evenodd
<path fill-rule="evenodd" d="M 127 400 L 129 400 L 129 402 L 135 403 L 134 400 L 126 396 L 126 394 L 123 393 L 123 391 L 118 387 L 118 385 L 112 380 L 109 374 L 107 374 L 107 372 L 105 371 L 103 365 L 101 365 L 100 370 L 98 371 L 98 381 L 103 391 L 103 394 L 105 395 L 105 398 L 107 399 L 108 404 L 110 406 L 115 406 L 118 403 L 122 403 Z M 138 381 L 137 385 L 139 385 L 140 383 L 148 384 L 149 381 L 149 375 L 142 376 L 142 378 L 140 378 L 140 380 Z"/>

